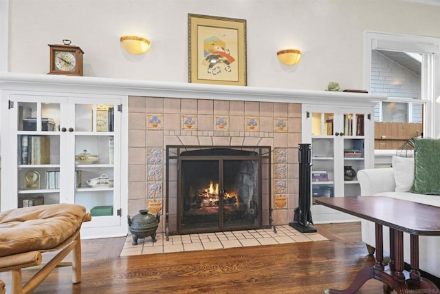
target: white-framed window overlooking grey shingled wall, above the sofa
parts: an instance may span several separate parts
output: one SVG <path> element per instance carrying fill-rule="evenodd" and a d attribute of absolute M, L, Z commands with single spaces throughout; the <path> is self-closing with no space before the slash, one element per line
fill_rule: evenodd
<path fill-rule="evenodd" d="M 440 39 L 366 32 L 365 41 L 364 85 L 388 96 L 375 107 L 375 149 L 395 152 L 413 136 L 435 137 Z"/>

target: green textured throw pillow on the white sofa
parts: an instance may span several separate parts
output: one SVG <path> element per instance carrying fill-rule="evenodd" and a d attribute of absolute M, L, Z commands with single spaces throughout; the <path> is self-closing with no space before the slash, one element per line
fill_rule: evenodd
<path fill-rule="evenodd" d="M 412 138 L 414 142 L 414 184 L 412 193 L 440 195 L 440 140 Z"/>

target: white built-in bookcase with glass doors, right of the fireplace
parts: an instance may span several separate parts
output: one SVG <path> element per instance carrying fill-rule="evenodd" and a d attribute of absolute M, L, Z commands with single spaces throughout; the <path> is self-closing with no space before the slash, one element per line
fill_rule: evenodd
<path fill-rule="evenodd" d="M 373 167 L 372 107 L 303 108 L 303 140 L 311 143 L 311 211 L 318 222 L 344 221 L 351 216 L 316 205 L 316 198 L 360 196 L 357 173 Z"/>

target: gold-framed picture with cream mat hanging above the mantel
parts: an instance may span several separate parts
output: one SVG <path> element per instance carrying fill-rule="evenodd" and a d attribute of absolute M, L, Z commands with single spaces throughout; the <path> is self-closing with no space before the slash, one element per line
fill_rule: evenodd
<path fill-rule="evenodd" d="M 248 84 L 245 19 L 188 14 L 188 81 Z"/>

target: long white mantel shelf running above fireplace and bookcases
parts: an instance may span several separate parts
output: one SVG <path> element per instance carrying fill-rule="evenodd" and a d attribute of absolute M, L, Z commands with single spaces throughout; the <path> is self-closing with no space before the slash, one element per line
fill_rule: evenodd
<path fill-rule="evenodd" d="M 32 90 L 70 93 L 96 93 L 126 96 L 157 96 L 163 98 L 197 98 L 230 101 L 331 104 L 351 107 L 375 105 L 387 97 L 382 94 L 292 90 L 270 87 L 244 87 L 197 83 L 60 76 L 50 74 L 19 74 L 0 72 L 0 90 Z"/>

